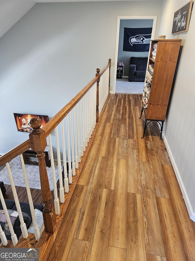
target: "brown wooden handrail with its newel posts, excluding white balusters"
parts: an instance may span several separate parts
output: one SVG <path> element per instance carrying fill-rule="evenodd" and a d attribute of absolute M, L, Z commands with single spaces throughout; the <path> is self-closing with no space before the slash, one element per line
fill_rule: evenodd
<path fill-rule="evenodd" d="M 28 149 L 32 149 L 37 152 L 38 165 L 39 165 L 39 173 L 40 173 L 40 181 L 41 181 L 41 191 L 42 198 L 44 203 L 44 225 L 45 231 L 48 233 L 54 233 L 56 226 L 56 217 L 55 210 L 51 201 L 51 191 L 48 181 L 47 170 L 45 166 L 45 154 L 44 149 L 47 145 L 46 137 L 59 125 L 59 123 L 66 117 L 66 115 L 76 106 L 76 104 L 83 98 L 83 96 L 93 87 L 93 85 L 97 84 L 97 103 L 96 108 L 99 106 L 99 81 L 101 75 L 109 68 L 109 84 L 110 84 L 110 66 L 111 59 L 109 59 L 108 65 L 105 66 L 104 69 L 100 71 L 100 69 L 96 70 L 96 76 L 93 80 L 91 80 L 69 103 L 66 104 L 44 127 L 41 129 L 41 119 L 40 118 L 32 118 L 30 121 L 30 126 L 33 128 L 31 133 L 29 134 L 29 139 L 24 141 L 22 144 L 16 146 L 12 150 L 8 151 L 4 155 L 0 157 L 0 166 L 5 163 L 11 161 L 13 158 L 22 154 L 24 151 Z M 108 92 L 109 93 L 109 92 Z M 99 112 L 97 111 L 97 119 L 99 117 Z"/>

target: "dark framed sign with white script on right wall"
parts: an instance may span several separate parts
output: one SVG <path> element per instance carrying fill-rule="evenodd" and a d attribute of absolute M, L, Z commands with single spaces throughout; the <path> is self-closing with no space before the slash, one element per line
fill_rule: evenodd
<path fill-rule="evenodd" d="M 174 13 L 172 35 L 188 31 L 193 1 L 182 6 Z"/>

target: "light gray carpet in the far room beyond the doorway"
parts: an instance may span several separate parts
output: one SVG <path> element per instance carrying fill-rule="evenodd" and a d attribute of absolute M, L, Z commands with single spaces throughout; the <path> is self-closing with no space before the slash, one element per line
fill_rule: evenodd
<path fill-rule="evenodd" d="M 116 93 L 142 94 L 144 82 L 129 82 L 128 78 L 116 79 Z"/>

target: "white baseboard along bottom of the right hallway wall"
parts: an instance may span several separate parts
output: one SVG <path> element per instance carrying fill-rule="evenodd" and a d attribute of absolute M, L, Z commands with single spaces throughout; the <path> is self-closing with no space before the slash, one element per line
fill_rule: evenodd
<path fill-rule="evenodd" d="M 177 181 L 179 183 L 179 187 L 181 189 L 181 192 L 182 192 L 182 195 L 183 195 L 183 199 L 184 199 L 184 202 L 186 204 L 186 208 L 187 208 L 187 211 L 188 211 L 188 214 L 189 214 L 189 217 L 190 219 L 195 222 L 195 213 L 193 212 L 193 208 L 190 204 L 190 200 L 188 198 L 188 195 L 187 195 L 187 192 L 186 192 L 186 188 L 183 184 L 183 181 L 182 181 L 182 178 L 181 178 L 181 175 L 179 173 L 179 170 L 177 168 L 177 165 L 176 165 L 176 162 L 175 162 L 175 159 L 172 155 L 172 152 L 171 152 L 171 149 L 168 145 L 168 141 L 166 139 L 166 136 L 164 134 L 164 132 L 162 133 L 162 136 L 163 136 L 163 140 L 164 140 L 164 143 L 165 143 L 165 146 L 166 146 L 166 149 L 167 149 L 167 152 L 168 152 L 168 155 L 169 155 L 169 158 L 171 160 L 171 163 L 172 163 L 172 166 L 173 166 L 173 170 L 175 171 L 175 174 L 176 174 L 176 178 L 177 178 Z"/>

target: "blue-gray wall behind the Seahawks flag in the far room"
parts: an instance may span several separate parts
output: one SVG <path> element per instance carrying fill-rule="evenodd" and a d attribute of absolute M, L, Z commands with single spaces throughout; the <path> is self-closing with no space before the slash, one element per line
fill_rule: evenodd
<path fill-rule="evenodd" d="M 124 38 L 124 27 L 127 28 L 148 28 L 153 26 L 153 20 L 150 19 L 129 19 L 120 21 L 119 30 L 119 48 L 118 48 L 118 64 L 124 62 L 124 76 L 129 76 L 129 62 L 130 58 L 133 57 L 148 57 L 149 52 L 127 52 L 123 51 L 123 38 Z"/>

